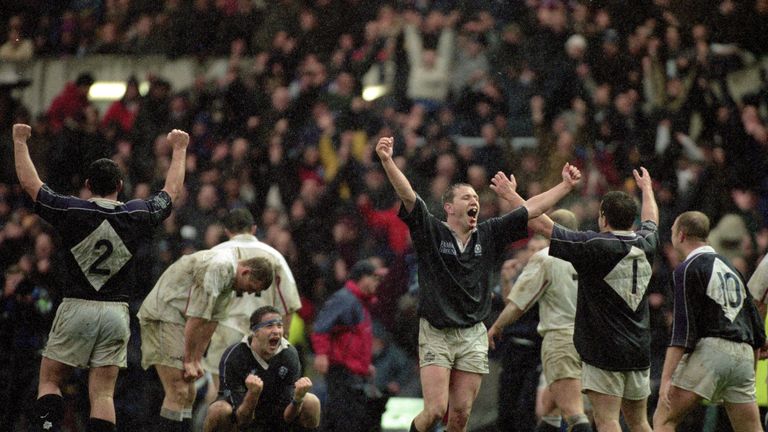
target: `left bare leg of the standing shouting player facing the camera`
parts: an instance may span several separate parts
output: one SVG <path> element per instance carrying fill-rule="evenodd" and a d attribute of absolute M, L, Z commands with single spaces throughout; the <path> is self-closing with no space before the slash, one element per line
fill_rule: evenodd
<path fill-rule="evenodd" d="M 422 367 L 420 374 L 424 409 L 413 422 L 417 430 L 424 432 L 432 430 L 443 419 L 448 409 L 451 370 L 442 366 L 429 365 Z"/>

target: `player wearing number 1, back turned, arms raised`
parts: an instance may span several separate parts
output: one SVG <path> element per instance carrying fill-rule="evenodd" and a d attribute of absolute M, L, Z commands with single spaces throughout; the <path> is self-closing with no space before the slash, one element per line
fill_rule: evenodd
<path fill-rule="evenodd" d="M 600 232 L 572 231 L 540 218 L 531 228 L 550 237 L 549 255 L 573 264 L 579 275 L 573 342 L 581 356 L 582 389 L 598 431 L 619 432 L 620 414 L 632 432 L 649 432 L 651 333 L 648 283 L 657 252 L 659 209 L 645 168 L 633 171 L 642 192 L 637 204 L 624 192 L 600 203 Z"/>

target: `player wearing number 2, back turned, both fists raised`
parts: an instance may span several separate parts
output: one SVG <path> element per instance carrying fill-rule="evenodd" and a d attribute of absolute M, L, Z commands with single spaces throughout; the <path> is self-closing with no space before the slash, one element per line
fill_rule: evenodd
<path fill-rule="evenodd" d="M 60 429 L 64 415 L 61 386 L 75 368 L 89 369 L 91 402 L 88 431 L 115 430 L 113 395 L 118 370 L 127 366 L 128 294 L 134 290 L 140 245 L 171 213 L 184 183 L 189 135 L 168 134 L 173 147 L 165 186 L 146 200 L 117 201 L 123 187 L 117 164 L 99 159 L 88 168 L 88 200 L 62 196 L 45 185 L 29 156 L 32 129 L 13 125 L 16 174 L 35 202 L 35 211 L 53 225 L 65 249 L 61 272 L 63 302 L 56 311 L 40 364 L 38 399 L 33 410 L 40 431 Z"/>

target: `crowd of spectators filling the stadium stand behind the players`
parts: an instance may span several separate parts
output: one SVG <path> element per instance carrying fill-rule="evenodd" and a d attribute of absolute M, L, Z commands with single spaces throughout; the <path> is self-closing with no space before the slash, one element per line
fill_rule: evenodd
<path fill-rule="evenodd" d="M 307 331 L 349 267 L 381 257 L 390 273 L 372 313 L 412 360 L 413 252 L 373 154 L 381 136 L 395 137 L 398 165 L 435 214 L 442 191 L 461 181 L 480 195 L 480 218 L 496 216 L 508 209 L 488 187 L 493 174 L 514 173 L 521 195 L 531 196 L 558 182 L 567 161 L 584 180 L 561 205 L 582 228 L 597 229 L 599 197 L 637 193 L 631 171 L 647 167 L 664 242 L 651 282 L 652 377 L 668 342 L 675 216 L 707 214 L 711 243 L 746 277 L 768 249 L 768 78 L 756 73 L 738 97 L 729 80 L 760 69 L 766 0 L 18 3 L 3 6 L 10 18 L 0 23 L 0 62 L 94 54 L 229 61 L 224 78 L 200 77 L 190 88 L 172 76 L 126 76 L 125 96 L 105 112 L 86 96 L 98 76 L 80 75 L 40 113 L 0 88 L 4 418 L 21 418 L 34 399 L 30 383 L 59 301 L 60 251 L 17 184 L 13 123 L 32 125 L 32 158 L 55 190 L 83 194 L 82 170 L 110 157 L 125 173 L 126 200 L 162 187 L 166 134 L 190 133 L 186 191 L 139 257 L 146 271 L 134 312 L 170 263 L 221 242 L 223 216 L 246 207 L 258 237 L 291 266 Z M 379 86 L 384 96 L 362 97 Z M 116 397 L 125 430 L 142 420 L 142 407 L 121 396 L 149 381 L 138 343 Z"/>

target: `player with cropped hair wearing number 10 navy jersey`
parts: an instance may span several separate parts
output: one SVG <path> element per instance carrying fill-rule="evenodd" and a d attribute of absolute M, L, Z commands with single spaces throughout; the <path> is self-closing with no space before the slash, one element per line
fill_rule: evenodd
<path fill-rule="evenodd" d="M 722 402 L 735 432 L 762 431 L 755 362 L 763 319 L 744 279 L 707 244 L 709 218 L 685 212 L 672 225 L 675 268 L 672 340 L 664 359 L 655 431 L 675 427 L 702 399 Z"/>

